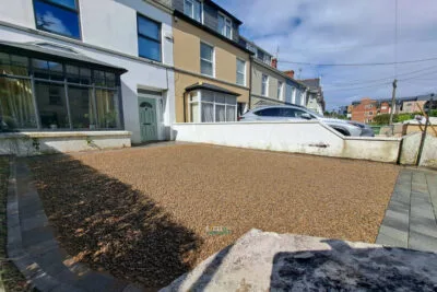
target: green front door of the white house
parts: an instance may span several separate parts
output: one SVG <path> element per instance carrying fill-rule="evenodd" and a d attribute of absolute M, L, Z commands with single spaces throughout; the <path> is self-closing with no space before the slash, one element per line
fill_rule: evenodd
<path fill-rule="evenodd" d="M 156 100 L 139 97 L 140 129 L 143 142 L 157 140 Z"/>

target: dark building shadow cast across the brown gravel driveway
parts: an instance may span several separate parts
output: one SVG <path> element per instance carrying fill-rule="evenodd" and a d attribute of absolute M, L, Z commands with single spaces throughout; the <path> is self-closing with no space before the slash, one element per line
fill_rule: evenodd
<path fill-rule="evenodd" d="M 68 155 L 27 162 L 50 224 L 76 260 L 153 290 L 191 267 L 201 241 L 146 194 Z"/>

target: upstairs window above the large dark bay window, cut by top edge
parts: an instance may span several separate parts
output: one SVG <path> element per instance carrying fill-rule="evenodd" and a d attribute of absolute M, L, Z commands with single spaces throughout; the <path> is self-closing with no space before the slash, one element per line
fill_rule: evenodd
<path fill-rule="evenodd" d="M 36 28 L 81 38 L 78 0 L 34 0 Z"/>

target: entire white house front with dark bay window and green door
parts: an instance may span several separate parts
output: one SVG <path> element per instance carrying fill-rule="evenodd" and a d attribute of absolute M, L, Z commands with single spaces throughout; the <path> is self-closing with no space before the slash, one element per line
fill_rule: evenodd
<path fill-rule="evenodd" d="M 172 11 L 152 1 L 1 0 L 3 122 L 172 139 Z"/>

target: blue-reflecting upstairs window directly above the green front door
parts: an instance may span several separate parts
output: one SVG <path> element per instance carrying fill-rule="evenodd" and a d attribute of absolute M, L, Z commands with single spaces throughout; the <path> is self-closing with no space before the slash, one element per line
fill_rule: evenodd
<path fill-rule="evenodd" d="M 138 15 L 138 49 L 140 57 L 161 62 L 161 24 Z"/>

